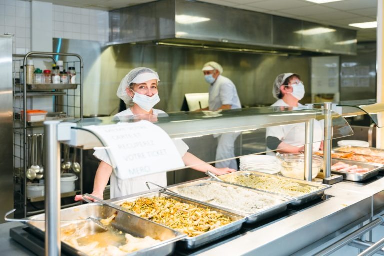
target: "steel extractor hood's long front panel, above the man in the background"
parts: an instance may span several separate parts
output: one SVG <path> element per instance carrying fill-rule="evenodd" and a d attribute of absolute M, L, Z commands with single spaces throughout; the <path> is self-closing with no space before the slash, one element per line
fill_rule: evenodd
<path fill-rule="evenodd" d="M 209 19 L 202 22 L 177 21 L 185 15 Z M 241 43 L 248 45 L 270 45 L 272 43 L 272 16 L 191 1 L 176 1 L 175 32 L 178 38 Z"/>

